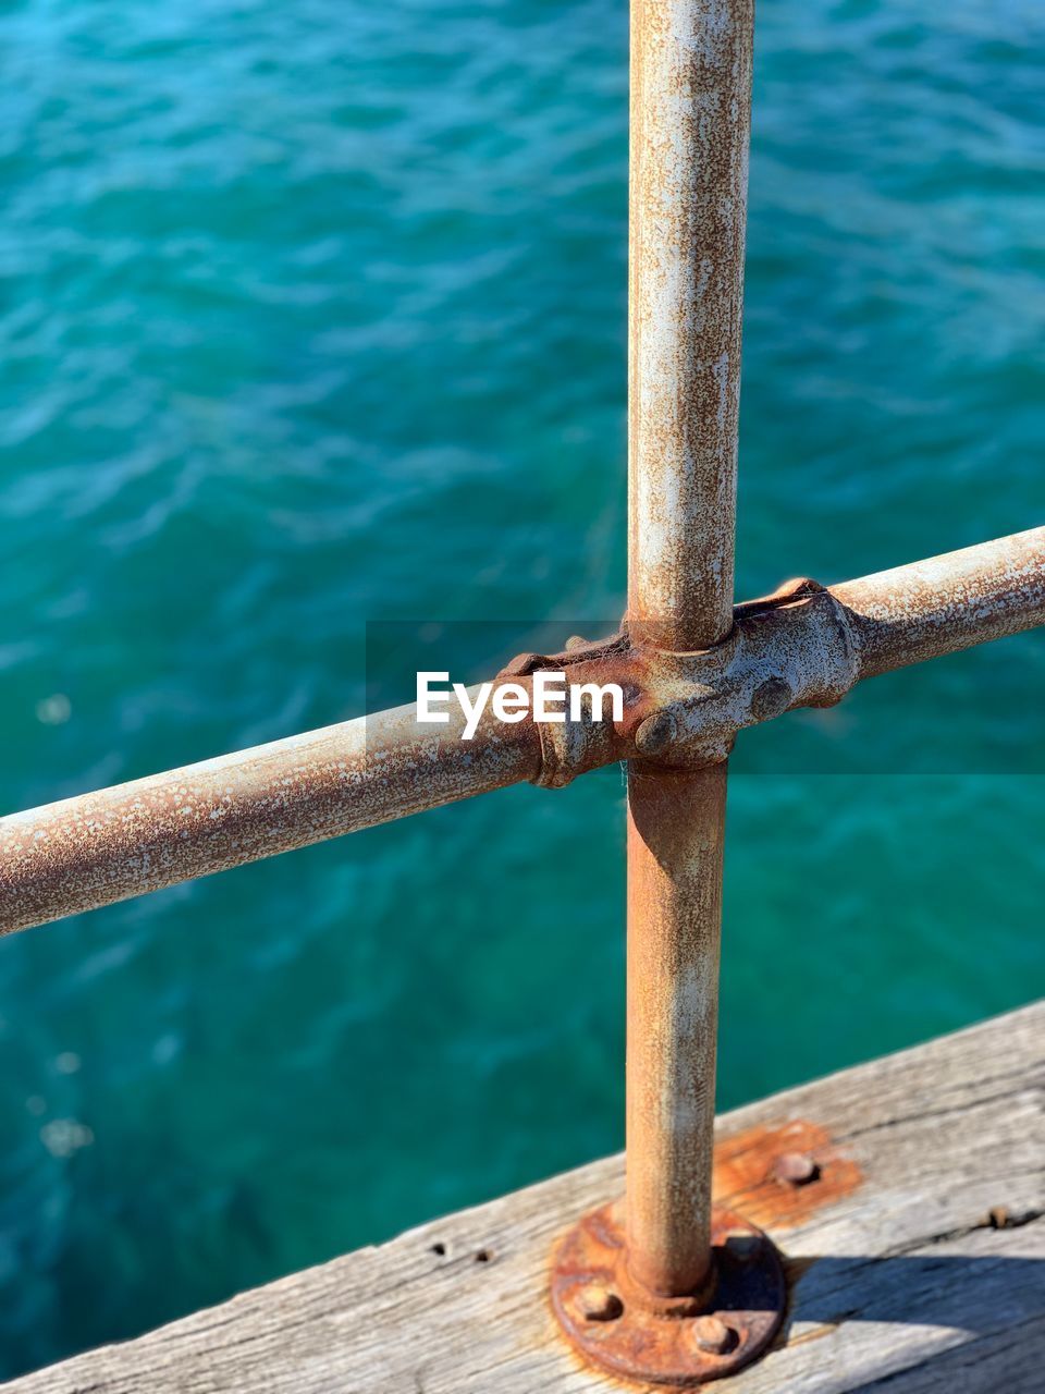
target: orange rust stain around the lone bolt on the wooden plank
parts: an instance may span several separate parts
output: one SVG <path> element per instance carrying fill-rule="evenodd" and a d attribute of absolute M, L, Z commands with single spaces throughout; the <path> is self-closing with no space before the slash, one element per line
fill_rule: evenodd
<path fill-rule="evenodd" d="M 782 1185 L 780 1158 L 794 1156 L 812 1160 L 815 1178 L 805 1185 Z M 715 1199 L 769 1231 L 793 1230 L 851 1195 L 862 1179 L 857 1163 L 843 1156 L 828 1129 L 801 1118 L 775 1128 L 748 1128 L 715 1147 Z"/>

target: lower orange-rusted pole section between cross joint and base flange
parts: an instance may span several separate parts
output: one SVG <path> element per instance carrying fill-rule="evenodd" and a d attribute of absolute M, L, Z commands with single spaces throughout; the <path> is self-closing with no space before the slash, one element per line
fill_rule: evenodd
<path fill-rule="evenodd" d="M 726 767 L 628 776 L 627 1249 L 652 1292 L 711 1267 Z"/>

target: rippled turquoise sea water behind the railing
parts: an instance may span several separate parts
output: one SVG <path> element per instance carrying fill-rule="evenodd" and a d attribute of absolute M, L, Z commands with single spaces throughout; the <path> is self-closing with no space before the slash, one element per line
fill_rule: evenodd
<path fill-rule="evenodd" d="M 0 802 L 623 594 L 626 13 L 0 10 Z M 759 7 L 738 590 L 1042 521 L 1031 0 Z M 748 733 L 722 1107 L 1045 991 L 1045 643 Z M 621 1144 L 616 769 L 0 944 L 0 1374 Z"/>

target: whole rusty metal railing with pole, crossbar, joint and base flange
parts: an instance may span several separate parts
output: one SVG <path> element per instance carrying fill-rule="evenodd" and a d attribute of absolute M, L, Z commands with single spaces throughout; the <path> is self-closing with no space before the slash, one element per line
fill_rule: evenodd
<path fill-rule="evenodd" d="M 1045 623 L 1045 528 L 733 604 L 750 0 L 633 0 L 630 548 L 621 631 L 520 655 L 617 682 L 620 719 L 421 729 L 411 707 L 0 820 L 0 933 L 506 785 L 628 765 L 627 1188 L 559 1245 L 591 1361 L 698 1383 L 772 1338 L 772 1243 L 711 1203 L 722 855 L 737 733 Z M 536 1299 L 536 1295 L 535 1295 Z"/>

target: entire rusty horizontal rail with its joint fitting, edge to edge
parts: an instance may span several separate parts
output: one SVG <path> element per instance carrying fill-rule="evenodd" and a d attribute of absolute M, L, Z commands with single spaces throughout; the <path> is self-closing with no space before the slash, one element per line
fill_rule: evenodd
<path fill-rule="evenodd" d="M 829 595 L 843 626 L 816 595 L 738 606 L 734 636 L 709 655 L 712 669 L 722 661 L 706 676 L 720 700 L 706 700 L 705 687 L 679 722 L 691 756 L 704 747 L 713 763 L 741 726 L 787 705 L 837 700 L 854 680 L 1045 625 L 1045 528 L 844 581 Z M 435 735 L 417 728 L 410 705 L 0 818 L 0 933 L 506 785 L 564 783 L 628 758 L 649 711 L 676 700 L 687 705 L 686 684 L 659 677 L 659 662 L 641 650 L 614 651 L 571 668 L 574 682 L 610 679 L 628 689 L 620 729 L 589 726 L 580 740 L 568 726 L 503 723 L 488 707 L 464 742 L 453 704 L 450 723 L 432 728 Z M 793 700 L 773 690 L 782 673 Z"/>

